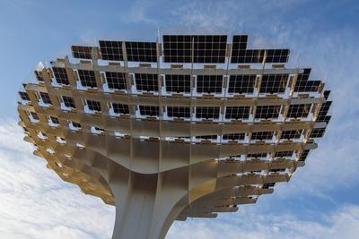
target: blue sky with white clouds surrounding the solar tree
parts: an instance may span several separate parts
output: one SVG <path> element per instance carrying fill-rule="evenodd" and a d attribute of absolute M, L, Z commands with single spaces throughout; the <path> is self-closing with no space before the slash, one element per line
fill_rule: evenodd
<path fill-rule="evenodd" d="M 291 181 L 216 219 L 175 222 L 180 238 L 358 238 L 358 1 L 0 0 L 0 238 L 110 238 L 114 207 L 84 195 L 32 156 L 17 125 L 17 91 L 39 61 L 99 39 L 249 34 L 252 47 L 290 47 L 331 90 L 332 120 Z"/>

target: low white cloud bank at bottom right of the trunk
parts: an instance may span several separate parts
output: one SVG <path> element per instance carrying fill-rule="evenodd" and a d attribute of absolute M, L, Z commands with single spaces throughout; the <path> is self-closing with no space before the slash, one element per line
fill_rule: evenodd
<path fill-rule="evenodd" d="M 324 214 L 322 222 L 301 220 L 291 215 L 264 215 L 256 210 L 242 209 L 231 216 L 206 220 L 188 220 L 175 223 L 168 239 L 302 239 L 346 238 L 355 239 L 359 234 L 359 207 L 350 205 L 332 214 Z M 320 220 L 320 218 L 318 218 Z"/>

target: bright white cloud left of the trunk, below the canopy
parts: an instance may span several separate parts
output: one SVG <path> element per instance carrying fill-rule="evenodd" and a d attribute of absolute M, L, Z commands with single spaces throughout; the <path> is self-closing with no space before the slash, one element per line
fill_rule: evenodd
<path fill-rule="evenodd" d="M 0 238 L 109 238 L 114 207 L 63 182 L 22 137 L 1 122 Z"/>

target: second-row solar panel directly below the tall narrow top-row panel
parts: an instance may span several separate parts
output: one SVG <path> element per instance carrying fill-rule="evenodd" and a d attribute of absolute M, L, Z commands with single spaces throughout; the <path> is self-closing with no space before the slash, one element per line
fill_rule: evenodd
<path fill-rule="evenodd" d="M 239 74 L 231 75 L 229 81 L 229 93 L 253 93 L 257 75 Z"/>

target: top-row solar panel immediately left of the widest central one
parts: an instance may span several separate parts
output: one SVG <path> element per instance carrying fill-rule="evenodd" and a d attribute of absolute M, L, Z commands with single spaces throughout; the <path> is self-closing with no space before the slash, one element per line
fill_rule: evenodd
<path fill-rule="evenodd" d="M 155 42 L 126 42 L 127 61 L 157 62 L 157 44 Z"/>

